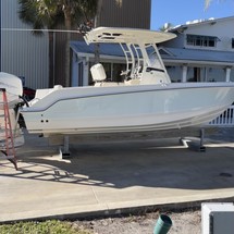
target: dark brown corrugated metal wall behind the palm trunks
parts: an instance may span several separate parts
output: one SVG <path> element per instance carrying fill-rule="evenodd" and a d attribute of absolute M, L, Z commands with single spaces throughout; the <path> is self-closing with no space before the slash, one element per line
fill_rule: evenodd
<path fill-rule="evenodd" d="M 119 8 L 115 0 L 103 0 L 100 26 L 150 28 L 151 0 L 123 0 Z M 76 28 L 74 28 L 76 29 Z M 64 85 L 64 38 L 65 33 L 56 33 L 54 81 L 53 84 Z M 72 34 L 72 40 L 81 39 L 81 35 Z M 52 86 L 52 83 L 50 83 Z"/>

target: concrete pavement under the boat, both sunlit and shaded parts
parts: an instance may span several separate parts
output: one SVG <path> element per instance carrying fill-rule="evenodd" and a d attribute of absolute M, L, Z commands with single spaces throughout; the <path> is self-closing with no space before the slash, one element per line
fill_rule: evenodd
<path fill-rule="evenodd" d="M 205 152 L 178 138 L 83 140 L 71 146 L 72 158 L 62 159 L 58 147 L 26 135 L 19 171 L 0 161 L 0 223 L 232 198 L 233 128 L 210 137 Z"/>

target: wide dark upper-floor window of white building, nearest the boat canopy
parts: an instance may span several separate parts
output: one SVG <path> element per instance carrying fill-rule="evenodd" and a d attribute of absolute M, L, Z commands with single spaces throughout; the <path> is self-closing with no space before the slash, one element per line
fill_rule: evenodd
<path fill-rule="evenodd" d="M 195 47 L 215 47 L 218 37 L 187 35 L 187 45 Z"/>

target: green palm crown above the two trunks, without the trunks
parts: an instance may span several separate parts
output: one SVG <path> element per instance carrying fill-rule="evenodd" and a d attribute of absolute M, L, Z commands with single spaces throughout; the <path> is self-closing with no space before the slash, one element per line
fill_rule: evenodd
<path fill-rule="evenodd" d="M 65 25 L 65 19 L 78 26 L 90 22 L 97 13 L 97 0 L 19 0 L 20 19 L 34 29 Z M 67 28 L 71 29 L 71 28 Z"/>

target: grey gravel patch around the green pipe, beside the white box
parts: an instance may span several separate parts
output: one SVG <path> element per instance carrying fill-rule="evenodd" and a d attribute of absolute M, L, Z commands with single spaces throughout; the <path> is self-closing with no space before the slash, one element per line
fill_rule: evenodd
<path fill-rule="evenodd" d="M 197 211 L 164 213 L 172 220 L 169 234 L 200 234 L 201 213 Z M 152 234 L 159 212 L 124 218 L 107 218 L 91 221 L 75 221 L 74 225 L 82 226 L 94 234 Z"/>

